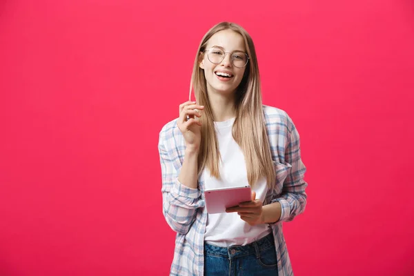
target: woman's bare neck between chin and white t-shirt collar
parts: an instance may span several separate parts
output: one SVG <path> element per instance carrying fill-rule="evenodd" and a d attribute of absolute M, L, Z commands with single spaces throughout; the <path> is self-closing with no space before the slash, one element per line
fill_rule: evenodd
<path fill-rule="evenodd" d="M 208 99 L 213 110 L 214 121 L 226 121 L 236 117 L 233 93 L 231 95 L 209 93 Z"/>

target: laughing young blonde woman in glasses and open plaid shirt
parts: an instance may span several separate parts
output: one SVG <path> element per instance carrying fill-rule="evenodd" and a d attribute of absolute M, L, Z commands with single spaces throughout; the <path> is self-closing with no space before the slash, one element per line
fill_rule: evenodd
<path fill-rule="evenodd" d="M 192 83 L 196 101 L 159 134 L 164 216 L 177 232 L 170 275 L 293 275 L 282 222 L 304 211 L 306 167 L 292 119 L 262 105 L 244 28 L 204 35 Z M 206 188 L 244 184 L 252 201 L 208 215 Z"/>

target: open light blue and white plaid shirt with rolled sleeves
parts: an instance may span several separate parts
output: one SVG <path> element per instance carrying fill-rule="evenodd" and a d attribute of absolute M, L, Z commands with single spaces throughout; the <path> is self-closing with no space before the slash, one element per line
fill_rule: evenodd
<path fill-rule="evenodd" d="M 300 155 L 299 134 L 288 114 L 279 108 L 264 106 L 264 117 L 276 170 L 275 183 L 268 190 L 264 205 L 279 201 L 282 206 L 279 221 L 270 224 L 270 227 L 275 237 L 278 275 L 290 276 L 293 270 L 282 222 L 291 221 L 305 209 L 305 189 L 308 186 L 304 181 L 306 167 Z M 204 181 L 200 176 L 198 188 L 188 188 L 178 180 L 186 143 L 177 126 L 177 119 L 162 128 L 158 148 L 164 217 L 172 230 L 177 232 L 170 275 L 204 275 L 204 233 L 207 222 Z"/>

